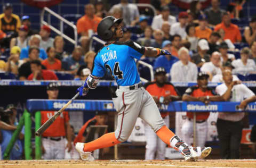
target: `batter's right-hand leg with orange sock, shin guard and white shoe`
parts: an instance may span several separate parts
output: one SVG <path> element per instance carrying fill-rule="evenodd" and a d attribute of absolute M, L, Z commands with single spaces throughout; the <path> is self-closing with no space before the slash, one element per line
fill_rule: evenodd
<path fill-rule="evenodd" d="M 193 147 L 189 147 L 177 135 L 175 135 L 169 128 L 166 127 L 156 103 L 151 95 L 145 90 L 143 96 L 143 107 L 141 108 L 140 117 L 147 122 L 150 127 L 156 132 L 157 136 L 162 139 L 165 144 L 179 150 L 187 161 L 194 160 L 198 157 L 206 157 L 210 154 L 211 148 L 202 148 L 200 155 L 194 151 Z"/>

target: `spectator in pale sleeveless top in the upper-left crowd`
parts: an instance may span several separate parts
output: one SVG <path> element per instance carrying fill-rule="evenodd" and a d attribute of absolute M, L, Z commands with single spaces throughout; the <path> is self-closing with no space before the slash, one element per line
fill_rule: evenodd
<path fill-rule="evenodd" d="M 10 48 L 13 46 L 19 46 L 20 48 L 25 48 L 28 46 L 29 38 L 28 35 L 28 27 L 26 25 L 21 25 L 18 28 L 18 37 L 14 37 L 11 39 Z"/>

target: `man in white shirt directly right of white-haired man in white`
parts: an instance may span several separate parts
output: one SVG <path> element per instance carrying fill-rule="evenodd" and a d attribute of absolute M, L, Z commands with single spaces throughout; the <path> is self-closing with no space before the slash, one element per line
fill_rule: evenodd
<path fill-rule="evenodd" d="M 221 61 L 220 53 L 213 52 L 211 56 L 211 62 L 206 62 L 203 64 L 201 71 L 209 74 L 209 80 L 211 81 L 215 74 L 221 74 Z"/>

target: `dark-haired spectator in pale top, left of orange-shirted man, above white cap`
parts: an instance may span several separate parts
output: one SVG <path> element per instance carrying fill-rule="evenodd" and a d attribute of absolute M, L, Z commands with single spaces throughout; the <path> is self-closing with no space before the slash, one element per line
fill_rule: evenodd
<path fill-rule="evenodd" d="M 189 41 L 190 43 L 190 51 L 196 51 L 197 50 L 197 43 L 198 43 L 198 38 L 195 36 L 195 24 L 188 24 L 188 26 L 186 27 L 186 33 L 187 33 L 187 37 L 186 40 Z"/>

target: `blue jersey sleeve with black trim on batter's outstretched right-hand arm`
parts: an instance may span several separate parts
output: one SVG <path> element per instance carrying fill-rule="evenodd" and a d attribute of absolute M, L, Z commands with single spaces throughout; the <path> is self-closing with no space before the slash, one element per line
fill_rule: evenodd
<path fill-rule="evenodd" d="M 129 56 L 133 58 L 140 60 L 140 57 L 145 54 L 145 47 L 134 41 L 127 41 L 126 45 L 128 46 Z"/>

